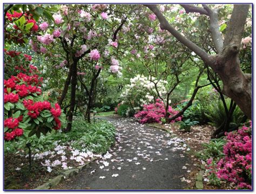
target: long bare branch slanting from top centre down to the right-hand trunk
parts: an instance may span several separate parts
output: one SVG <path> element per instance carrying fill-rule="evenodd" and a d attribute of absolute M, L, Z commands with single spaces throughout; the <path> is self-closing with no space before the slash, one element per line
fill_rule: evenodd
<path fill-rule="evenodd" d="M 169 31 L 174 37 L 176 37 L 180 41 L 180 43 L 187 46 L 188 49 L 190 49 L 191 51 L 194 51 L 196 54 L 198 54 L 198 56 L 201 59 L 203 59 L 207 63 L 211 63 L 210 54 L 205 52 L 199 46 L 194 44 L 192 41 L 188 40 L 186 37 L 182 36 L 176 29 L 174 29 L 174 27 L 169 24 L 169 22 L 166 20 L 163 14 L 159 11 L 156 5 L 145 4 L 145 6 L 147 6 L 147 8 L 149 8 L 157 16 L 160 22 L 161 29 Z"/>

